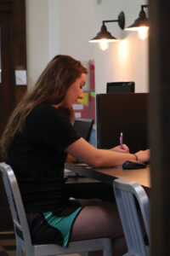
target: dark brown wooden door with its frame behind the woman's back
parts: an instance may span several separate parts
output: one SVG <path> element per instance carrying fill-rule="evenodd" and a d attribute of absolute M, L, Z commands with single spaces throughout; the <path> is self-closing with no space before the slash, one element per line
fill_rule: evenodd
<path fill-rule="evenodd" d="M 15 70 L 26 70 L 25 0 L 0 0 L 0 136 L 27 86 L 15 85 Z M 0 161 L 3 158 L 0 152 Z M 0 176 L 0 231 L 13 229 Z"/>

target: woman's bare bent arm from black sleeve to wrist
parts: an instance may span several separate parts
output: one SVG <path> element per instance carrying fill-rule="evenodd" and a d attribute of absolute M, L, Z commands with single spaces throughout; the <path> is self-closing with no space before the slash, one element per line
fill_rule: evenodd
<path fill-rule="evenodd" d="M 82 162 L 95 167 L 119 166 L 126 160 L 136 159 L 134 154 L 94 148 L 82 137 L 65 148 L 65 152 L 76 157 L 77 160 L 82 160 Z"/>

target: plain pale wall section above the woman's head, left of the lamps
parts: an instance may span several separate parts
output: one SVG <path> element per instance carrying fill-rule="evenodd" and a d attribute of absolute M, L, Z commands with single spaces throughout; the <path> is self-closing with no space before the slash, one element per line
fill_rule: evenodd
<path fill-rule="evenodd" d="M 26 0 L 28 88 L 54 55 L 71 55 L 88 66 L 93 34 L 94 0 Z"/>

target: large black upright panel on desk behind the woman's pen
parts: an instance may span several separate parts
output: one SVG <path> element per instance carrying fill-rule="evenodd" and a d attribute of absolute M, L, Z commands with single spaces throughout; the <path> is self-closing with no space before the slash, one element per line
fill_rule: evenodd
<path fill-rule="evenodd" d="M 147 136 L 148 93 L 97 94 L 97 147 L 127 144 L 131 153 L 149 148 Z"/>

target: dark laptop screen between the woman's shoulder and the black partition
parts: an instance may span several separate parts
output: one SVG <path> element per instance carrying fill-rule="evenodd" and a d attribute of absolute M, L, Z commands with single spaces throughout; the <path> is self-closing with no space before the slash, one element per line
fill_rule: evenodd
<path fill-rule="evenodd" d="M 87 142 L 89 142 L 92 128 L 94 125 L 94 119 L 75 119 L 74 128 Z"/>

